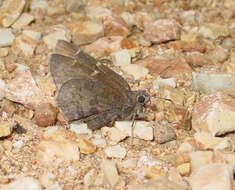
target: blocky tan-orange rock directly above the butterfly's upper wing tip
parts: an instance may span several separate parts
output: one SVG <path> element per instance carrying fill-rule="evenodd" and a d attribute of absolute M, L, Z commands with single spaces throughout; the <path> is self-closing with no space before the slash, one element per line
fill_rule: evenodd
<path fill-rule="evenodd" d="M 76 45 L 92 43 L 104 36 L 103 25 L 93 21 L 78 21 L 67 25 L 71 31 L 72 41 Z"/>

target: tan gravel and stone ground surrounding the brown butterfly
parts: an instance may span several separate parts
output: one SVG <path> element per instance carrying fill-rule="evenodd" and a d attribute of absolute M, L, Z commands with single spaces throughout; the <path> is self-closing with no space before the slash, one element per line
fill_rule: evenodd
<path fill-rule="evenodd" d="M 0 0 L 0 190 L 235 189 L 234 10 Z M 147 90 L 144 114 L 94 131 L 65 121 L 48 68 L 60 39 Z"/>

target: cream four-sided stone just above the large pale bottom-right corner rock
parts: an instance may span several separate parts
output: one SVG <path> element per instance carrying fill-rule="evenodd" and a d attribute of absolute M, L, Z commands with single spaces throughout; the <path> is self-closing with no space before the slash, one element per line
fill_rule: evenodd
<path fill-rule="evenodd" d="M 213 152 L 211 151 L 195 151 L 189 154 L 191 159 L 192 172 L 196 171 L 198 168 L 212 163 Z"/>

